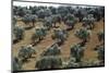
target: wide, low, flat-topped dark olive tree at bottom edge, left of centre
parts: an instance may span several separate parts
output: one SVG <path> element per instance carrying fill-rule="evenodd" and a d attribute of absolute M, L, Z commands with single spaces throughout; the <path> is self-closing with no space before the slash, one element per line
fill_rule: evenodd
<path fill-rule="evenodd" d="M 36 61 L 35 65 L 38 70 L 60 69 L 61 66 L 62 60 L 59 57 L 43 57 Z"/>

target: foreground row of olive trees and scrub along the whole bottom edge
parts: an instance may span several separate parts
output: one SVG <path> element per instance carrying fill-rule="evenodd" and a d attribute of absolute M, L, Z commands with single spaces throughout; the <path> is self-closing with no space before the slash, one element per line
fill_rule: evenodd
<path fill-rule="evenodd" d="M 82 61 L 84 58 L 85 48 L 78 44 L 71 46 L 71 53 L 69 61 L 64 62 L 60 57 L 61 50 L 57 44 L 48 47 L 45 50 L 40 58 L 36 60 L 35 68 L 37 70 L 52 70 L 52 69 L 63 69 L 63 68 L 80 68 L 80 66 L 95 66 L 95 65 L 104 65 L 105 62 L 105 49 L 104 45 L 97 46 L 94 50 L 97 51 L 98 56 L 96 61 Z M 32 46 L 22 47 L 19 57 L 13 59 L 13 70 L 22 70 L 23 63 L 26 62 L 32 54 L 35 54 L 36 51 L 32 48 Z"/>

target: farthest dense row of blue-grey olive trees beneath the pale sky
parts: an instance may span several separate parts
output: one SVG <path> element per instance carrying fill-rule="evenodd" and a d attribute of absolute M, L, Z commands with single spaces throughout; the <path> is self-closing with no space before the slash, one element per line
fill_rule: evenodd
<path fill-rule="evenodd" d="M 78 17 L 81 21 L 87 14 L 93 14 L 95 19 L 100 20 L 105 16 L 105 9 L 102 7 L 96 8 L 81 8 L 76 7 L 63 7 L 60 5 L 58 8 L 55 7 L 13 7 L 14 15 L 19 15 L 21 17 L 26 14 L 37 15 L 39 19 L 44 19 L 47 16 L 59 14 L 61 15 L 61 20 L 64 21 L 64 16 L 66 14 L 74 14 L 74 16 Z"/>

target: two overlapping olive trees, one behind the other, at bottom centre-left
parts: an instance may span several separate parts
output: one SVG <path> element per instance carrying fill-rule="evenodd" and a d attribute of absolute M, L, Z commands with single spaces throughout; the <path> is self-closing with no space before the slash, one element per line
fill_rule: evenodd
<path fill-rule="evenodd" d="M 61 50 L 57 44 L 52 44 L 36 61 L 35 68 L 38 70 L 52 70 L 62 68 Z"/>

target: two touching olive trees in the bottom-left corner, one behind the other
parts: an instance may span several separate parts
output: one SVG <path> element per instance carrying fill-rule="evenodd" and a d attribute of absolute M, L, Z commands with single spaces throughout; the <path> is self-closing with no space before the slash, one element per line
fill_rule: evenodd
<path fill-rule="evenodd" d="M 12 59 L 13 61 L 13 71 L 21 71 L 23 70 L 24 63 L 28 62 L 31 58 L 36 54 L 36 50 L 32 45 L 22 46 L 16 57 Z"/>

